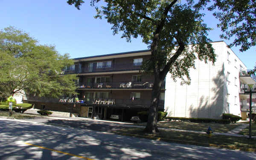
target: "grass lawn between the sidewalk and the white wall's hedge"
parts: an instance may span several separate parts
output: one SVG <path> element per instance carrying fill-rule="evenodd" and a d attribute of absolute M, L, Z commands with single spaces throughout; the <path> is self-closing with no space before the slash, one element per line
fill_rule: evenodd
<path fill-rule="evenodd" d="M 134 125 L 146 126 L 146 123 L 135 123 Z M 161 121 L 157 122 L 157 127 L 161 128 L 172 128 L 172 129 L 183 129 L 191 131 L 206 131 L 210 126 L 213 132 L 226 133 L 239 127 L 241 124 L 230 123 L 230 124 L 220 124 L 220 123 L 192 123 L 192 122 L 176 122 L 176 121 Z"/>

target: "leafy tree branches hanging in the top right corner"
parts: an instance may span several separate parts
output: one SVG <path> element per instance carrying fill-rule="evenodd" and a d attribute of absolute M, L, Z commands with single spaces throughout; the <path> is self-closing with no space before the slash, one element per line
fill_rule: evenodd
<path fill-rule="evenodd" d="M 221 38 L 234 38 L 229 47 L 241 46 L 241 52 L 256 45 L 256 1 L 255 0 L 199 0 L 199 5 L 214 12 L 223 31 Z"/>

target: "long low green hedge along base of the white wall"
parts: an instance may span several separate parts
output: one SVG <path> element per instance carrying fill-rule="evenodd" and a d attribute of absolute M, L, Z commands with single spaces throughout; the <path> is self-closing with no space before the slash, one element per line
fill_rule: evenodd
<path fill-rule="evenodd" d="M 199 122 L 199 123 L 223 123 L 223 124 L 230 124 L 229 119 L 209 119 L 209 118 L 185 118 L 185 117 L 166 117 L 169 121 L 178 120 L 181 122 Z"/>

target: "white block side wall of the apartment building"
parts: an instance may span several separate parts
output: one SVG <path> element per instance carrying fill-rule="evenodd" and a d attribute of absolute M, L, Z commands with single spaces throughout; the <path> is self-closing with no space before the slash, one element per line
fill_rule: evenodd
<path fill-rule="evenodd" d="M 212 43 L 218 55 L 215 65 L 211 62 L 197 60 L 196 70 L 190 70 L 191 84 L 180 85 L 180 80 L 174 82 L 170 74 L 166 76 L 165 109 L 168 116 L 221 118 L 222 113 L 240 114 L 239 85 L 235 86 L 235 77 L 239 81 L 239 67 L 244 64 L 227 48 L 224 41 Z M 230 52 L 230 62 L 227 61 L 227 51 Z M 227 72 L 230 73 L 227 84 Z M 227 93 L 230 94 L 227 106 Z M 236 96 L 236 104 L 235 104 Z"/>

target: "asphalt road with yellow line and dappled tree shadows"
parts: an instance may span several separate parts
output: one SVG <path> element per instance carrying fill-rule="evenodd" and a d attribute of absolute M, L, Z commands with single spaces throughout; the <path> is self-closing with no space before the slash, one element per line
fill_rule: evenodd
<path fill-rule="evenodd" d="M 0 160 L 253 160 L 255 153 L 0 119 Z"/>

